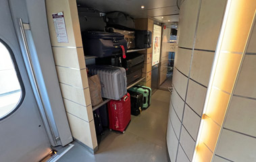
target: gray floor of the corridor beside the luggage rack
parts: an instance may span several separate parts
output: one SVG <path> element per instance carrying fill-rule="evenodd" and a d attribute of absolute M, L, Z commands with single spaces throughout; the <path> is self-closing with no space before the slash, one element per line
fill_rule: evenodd
<path fill-rule="evenodd" d="M 132 115 L 125 134 L 107 131 L 95 155 L 74 142 L 75 146 L 59 162 L 167 162 L 165 134 L 169 103 L 170 92 L 157 90 L 151 106 L 138 116 Z"/>

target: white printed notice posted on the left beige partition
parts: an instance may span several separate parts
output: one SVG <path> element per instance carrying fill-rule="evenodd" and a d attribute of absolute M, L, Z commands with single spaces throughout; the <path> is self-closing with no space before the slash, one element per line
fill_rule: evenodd
<path fill-rule="evenodd" d="M 52 14 L 52 16 L 58 43 L 68 43 L 68 34 L 63 12 Z"/>

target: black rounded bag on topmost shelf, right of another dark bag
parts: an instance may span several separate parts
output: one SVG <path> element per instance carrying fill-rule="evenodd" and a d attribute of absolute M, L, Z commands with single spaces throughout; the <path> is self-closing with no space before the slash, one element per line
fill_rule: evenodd
<path fill-rule="evenodd" d="M 120 11 L 112 11 L 106 14 L 107 27 L 118 28 L 122 30 L 134 30 L 134 19 Z"/>

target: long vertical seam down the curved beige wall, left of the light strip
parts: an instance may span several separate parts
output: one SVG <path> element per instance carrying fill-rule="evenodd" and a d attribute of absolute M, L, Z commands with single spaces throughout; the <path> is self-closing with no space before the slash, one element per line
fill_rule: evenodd
<path fill-rule="evenodd" d="M 186 84 L 186 93 L 185 93 L 184 107 L 183 107 L 183 112 L 182 112 L 182 124 L 183 124 L 184 111 L 185 111 L 185 106 L 186 106 L 186 97 L 187 97 L 187 94 L 188 94 L 188 84 L 189 84 L 190 72 L 191 72 L 192 63 L 193 63 L 193 55 L 194 55 L 194 49 L 195 49 L 195 42 L 196 42 L 196 39 L 197 39 L 197 28 L 199 26 L 199 16 L 200 16 L 200 11 L 201 11 L 201 4 L 202 4 L 202 0 L 199 0 L 199 9 L 197 11 L 197 22 L 196 22 L 196 27 L 195 27 L 193 50 L 192 50 L 192 54 L 191 54 L 190 67 L 189 67 L 189 70 L 188 70 L 188 81 L 187 81 L 187 84 Z M 182 130 L 182 126 L 180 127 L 180 136 L 181 136 L 181 130 Z M 179 136 L 179 139 L 178 139 L 179 143 L 180 143 L 180 136 Z M 179 146 L 181 146 L 181 145 L 178 145 L 178 148 L 179 148 Z M 177 150 L 178 150 L 178 148 L 177 148 Z M 177 162 L 177 157 L 178 157 L 178 151 L 176 153 L 176 160 L 175 160 L 176 162 Z"/>

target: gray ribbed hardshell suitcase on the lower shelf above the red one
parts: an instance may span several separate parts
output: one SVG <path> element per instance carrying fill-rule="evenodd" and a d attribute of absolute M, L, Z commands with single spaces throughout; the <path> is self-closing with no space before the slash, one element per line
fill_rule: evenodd
<path fill-rule="evenodd" d="M 89 74 L 101 80 L 101 96 L 119 100 L 127 93 L 127 78 L 124 68 L 112 65 L 88 65 Z"/>

